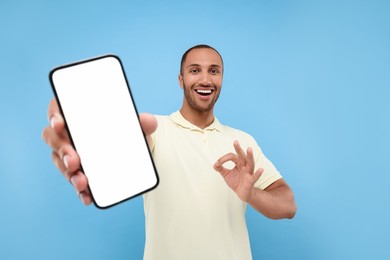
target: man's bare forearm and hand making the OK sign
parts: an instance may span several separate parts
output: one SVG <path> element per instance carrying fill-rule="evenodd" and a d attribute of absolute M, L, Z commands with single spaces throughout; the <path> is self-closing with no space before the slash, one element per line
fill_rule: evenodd
<path fill-rule="evenodd" d="M 293 218 L 296 212 L 294 195 L 283 179 L 279 179 L 265 190 L 254 187 L 260 178 L 263 169 L 254 171 L 254 158 L 252 149 L 245 153 L 237 141 L 234 142 L 237 154 L 229 153 L 214 164 L 214 169 L 224 178 L 226 184 L 237 196 L 264 216 L 271 219 Z M 226 169 L 223 164 L 227 161 L 235 163 L 233 169 Z"/>

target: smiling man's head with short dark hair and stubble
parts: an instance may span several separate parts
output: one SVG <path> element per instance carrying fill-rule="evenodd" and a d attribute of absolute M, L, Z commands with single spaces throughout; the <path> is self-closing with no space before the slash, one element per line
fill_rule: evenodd
<path fill-rule="evenodd" d="M 179 83 L 190 108 L 208 112 L 217 102 L 222 87 L 222 60 L 217 52 L 208 48 L 194 49 L 187 54 Z"/>

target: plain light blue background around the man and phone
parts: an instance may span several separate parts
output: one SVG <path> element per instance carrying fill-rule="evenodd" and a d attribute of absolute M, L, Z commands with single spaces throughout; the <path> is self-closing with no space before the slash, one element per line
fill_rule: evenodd
<path fill-rule="evenodd" d="M 248 208 L 254 259 L 390 259 L 389 1 L 0 3 L 0 259 L 140 259 L 142 198 L 81 205 L 41 140 L 54 66 L 105 53 L 140 111 L 177 110 L 182 53 L 222 53 L 225 124 L 292 186 L 293 220 Z"/>

